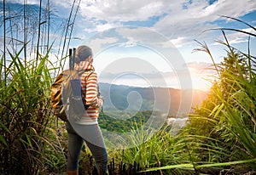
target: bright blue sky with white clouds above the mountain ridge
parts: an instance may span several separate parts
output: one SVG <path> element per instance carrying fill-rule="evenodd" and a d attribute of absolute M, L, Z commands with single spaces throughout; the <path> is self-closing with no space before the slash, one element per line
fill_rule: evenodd
<path fill-rule="evenodd" d="M 39 0 L 26 1 L 39 4 Z M 10 7 L 24 3 L 6 2 Z M 42 0 L 44 6 L 47 2 Z M 207 43 L 214 61 L 220 63 L 226 48 L 217 41 L 224 41 L 224 36 L 212 29 L 255 33 L 249 26 L 224 17 L 255 26 L 255 0 L 54 0 L 50 9 L 55 21 L 68 19 L 73 3 L 74 9 L 79 8 L 70 48 L 86 44 L 93 49 L 99 82 L 208 90 L 216 72 L 211 69 L 208 54 L 195 52 L 201 48 L 198 42 Z M 232 31 L 225 34 L 232 46 L 247 52 L 247 35 Z M 51 39 L 58 40 L 59 36 L 52 31 Z M 251 37 L 253 55 L 255 47 L 255 37 Z"/>

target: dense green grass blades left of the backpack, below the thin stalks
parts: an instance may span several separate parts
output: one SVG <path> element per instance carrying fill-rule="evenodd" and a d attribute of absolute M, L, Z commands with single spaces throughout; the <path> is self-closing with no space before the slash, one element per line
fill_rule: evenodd
<path fill-rule="evenodd" d="M 38 174 L 50 168 L 58 171 L 65 166 L 65 158 L 49 107 L 48 54 L 24 66 L 19 58 L 21 51 L 9 53 L 7 83 L 0 84 L 0 173 Z M 1 72 L 3 68 L 1 64 Z"/>

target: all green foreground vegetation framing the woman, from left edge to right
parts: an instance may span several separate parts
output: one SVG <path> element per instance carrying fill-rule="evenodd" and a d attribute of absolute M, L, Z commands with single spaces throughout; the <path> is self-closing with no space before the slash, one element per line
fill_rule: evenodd
<path fill-rule="evenodd" d="M 5 23 L 6 17 L 3 19 Z M 42 24 L 39 21 L 38 28 Z M 248 26 L 256 31 L 253 26 Z M 230 29 L 221 30 L 224 42 L 218 41 L 227 48 L 227 56 L 222 63 L 214 63 L 206 44 L 196 49 L 211 56 L 218 78 L 207 99 L 193 114 L 189 114 L 189 124 L 177 135 L 171 134 L 172 127 L 163 126 L 157 133 L 144 128 L 143 123 L 151 111 L 140 111 L 125 122 L 109 122 L 109 116 L 101 114 L 102 127 L 114 132 L 130 130 L 129 141 L 134 145 L 126 150 L 110 150 L 109 160 L 114 158 L 118 165 L 136 162 L 141 171 L 157 171 L 158 174 L 256 172 L 256 59 L 250 54 L 250 48 L 243 53 L 231 47 L 226 30 Z M 253 33 L 233 31 L 256 37 Z M 49 106 L 53 74 L 60 71 L 61 66 L 50 62 L 50 47 L 44 55 L 39 54 L 38 46 L 42 41 L 39 33 L 36 39 L 32 38 L 39 41 L 36 42 L 34 59 L 21 59 L 21 54 L 27 55 L 29 37 L 25 37 L 20 49 L 4 48 L 0 59 L 1 174 L 65 171 L 67 134 L 62 122 L 56 125 Z M 68 32 L 63 33 L 67 37 Z M 249 43 L 250 40 L 248 46 Z M 63 43 L 62 53 L 67 51 L 67 46 Z M 61 58 L 65 59 L 65 54 Z M 87 155 L 90 152 L 84 148 L 80 168 L 84 167 L 85 161 L 91 163 Z"/>

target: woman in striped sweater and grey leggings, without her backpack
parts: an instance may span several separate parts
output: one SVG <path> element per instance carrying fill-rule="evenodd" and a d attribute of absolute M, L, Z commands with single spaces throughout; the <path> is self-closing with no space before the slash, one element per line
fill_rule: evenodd
<path fill-rule="evenodd" d="M 68 155 L 67 174 L 79 174 L 79 155 L 85 141 L 95 161 L 98 174 L 106 174 L 108 153 L 102 138 L 101 128 L 97 117 L 103 98 L 99 96 L 97 75 L 92 65 L 92 51 L 87 46 L 79 46 L 75 53 L 75 71 L 84 71 L 81 80 L 82 98 L 88 109 L 79 121 L 67 122 Z"/>

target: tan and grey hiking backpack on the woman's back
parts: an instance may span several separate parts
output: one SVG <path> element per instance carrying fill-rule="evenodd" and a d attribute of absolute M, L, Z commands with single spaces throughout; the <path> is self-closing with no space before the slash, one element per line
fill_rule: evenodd
<path fill-rule="evenodd" d="M 85 105 L 84 98 L 82 98 L 79 78 L 85 71 L 62 71 L 60 75 L 56 76 L 55 82 L 51 85 L 51 106 L 54 115 L 61 118 L 62 121 L 68 121 L 67 110 L 72 111 L 73 114 L 80 112 L 79 115 L 82 115 L 84 110 L 89 107 L 89 105 Z"/>

